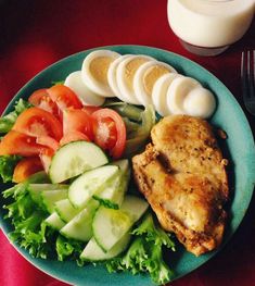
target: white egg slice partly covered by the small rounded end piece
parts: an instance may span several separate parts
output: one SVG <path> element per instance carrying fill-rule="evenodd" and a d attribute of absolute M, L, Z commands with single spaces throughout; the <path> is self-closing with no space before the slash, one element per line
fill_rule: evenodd
<path fill-rule="evenodd" d="M 173 114 L 187 114 L 183 109 L 184 99 L 189 92 L 196 87 L 201 87 L 201 84 L 194 78 L 188 76 L 175 78 L 170 84 L 166 96 L 169 111 Z"/>

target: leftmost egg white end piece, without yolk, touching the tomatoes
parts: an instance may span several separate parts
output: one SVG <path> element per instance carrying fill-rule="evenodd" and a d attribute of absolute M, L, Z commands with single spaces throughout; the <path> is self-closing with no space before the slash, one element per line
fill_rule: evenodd
<path fill-rule="evenodd" d="M 64 82 L 79 98 L 84 105 L 100 107 L 104 103 L 105 98 L 94 94 L 89 89 L 81 78 L 81 71 L 71 73 Z"/>

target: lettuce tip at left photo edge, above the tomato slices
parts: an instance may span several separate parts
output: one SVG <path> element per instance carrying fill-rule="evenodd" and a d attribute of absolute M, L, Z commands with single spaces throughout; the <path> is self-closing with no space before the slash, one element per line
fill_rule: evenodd
<path fill-rule="evenodd" d="M 14 125 L 17 116 L 26 109 L 30 108 L 31 104 L 20 98 L 15 104 L 14 110 L 10 112 L 9 114 L 0 117 L 0 133 L 8 133 L 11 130 L 12 126 Z"/>

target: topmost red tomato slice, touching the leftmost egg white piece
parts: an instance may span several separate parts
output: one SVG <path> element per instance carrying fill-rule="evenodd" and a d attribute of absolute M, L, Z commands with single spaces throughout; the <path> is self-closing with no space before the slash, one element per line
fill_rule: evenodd
<path fill-rule="evenodd" d="M 67 108 L 81 109 L 82 104 L 75 92 L 64 85 L 54 85 L 47 89 L 50 98 L 63 111 Z"/>

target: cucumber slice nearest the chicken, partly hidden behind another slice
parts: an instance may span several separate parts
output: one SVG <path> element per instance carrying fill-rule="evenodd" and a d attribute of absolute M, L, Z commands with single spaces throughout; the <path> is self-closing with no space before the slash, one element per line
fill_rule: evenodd
<path fill-rule="evenodd" d="M 112 164 L 119 166 L 119 176 L 109 187 L 95 194 L 93 199 L 98 200 L 105 208 L 119 209 L 127 191 L 130 172 L 127 159 L 113 162 Z"/>

